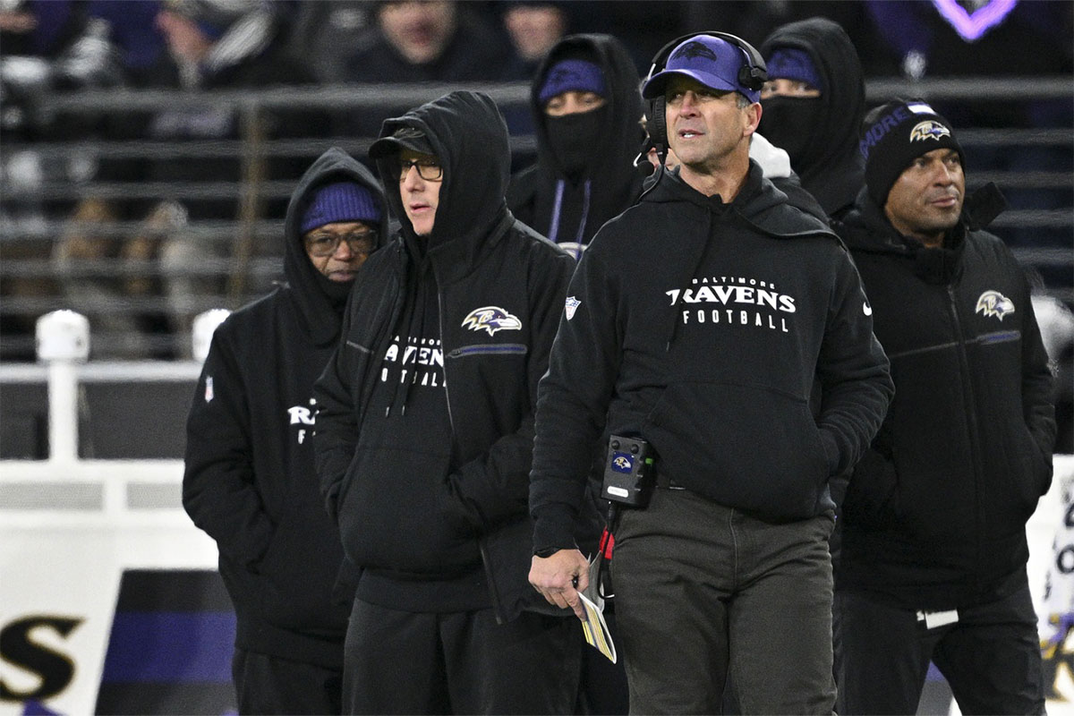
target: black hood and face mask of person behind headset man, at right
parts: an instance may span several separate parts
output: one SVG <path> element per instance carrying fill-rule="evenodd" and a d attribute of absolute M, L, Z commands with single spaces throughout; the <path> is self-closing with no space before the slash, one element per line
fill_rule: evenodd
<path fill-rule="evenodd" d="M 766 58 L 780 47 L 809 53 L 824 87 L 818 98 L 761 100 L 757 131 L 790 155 L 802 188 L 825 213 L 839 218 L 854 206 L 865 185 L 858 128 L 866 108 L 861 62 L 850 36 L 824 17 L 777 28 L 760 46 Z"/>

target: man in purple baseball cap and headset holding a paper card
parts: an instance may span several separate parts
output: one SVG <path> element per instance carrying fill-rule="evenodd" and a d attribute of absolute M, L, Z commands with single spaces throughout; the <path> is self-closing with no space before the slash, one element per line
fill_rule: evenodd
<path fill-rule="evenodd" d="M 613 436 L 619 466 L 640 440 L 647 497 L 621 491 L 611 525 L 630 712 L 720 713 L 729 682 L 739 713 L 830 714 L 829 481 L 884 419 L 888 362 L 846 249 L 750 159 L 759 54 L 722 33 L 667 49 L 642 96 L 681 163 L 597 232 L 567 290 L 538 390 L 529 582 L 581 615 L 569 527 L 593 444 Z"/>

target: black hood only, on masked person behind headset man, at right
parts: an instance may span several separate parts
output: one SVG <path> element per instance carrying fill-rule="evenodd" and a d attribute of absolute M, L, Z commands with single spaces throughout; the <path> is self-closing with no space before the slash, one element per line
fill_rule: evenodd
<path fill-rule="evenodd" d="M 793 158 L 792 165 L 802 187 L 825 211 L 834 214 L 854 202 L 865 182 L 865 160 L 858 150 L 858 130 L 866 107 L 861 61 L 843 28 L 824 17 L 777 28 L 761 44 L 760 53 L 771 57 L 778 47 L 808 53 L 824 84 L 816 121 L 812 128 L 802 128 L 811 131 L 803 143 L 810 150 L 797 160 Z"/>

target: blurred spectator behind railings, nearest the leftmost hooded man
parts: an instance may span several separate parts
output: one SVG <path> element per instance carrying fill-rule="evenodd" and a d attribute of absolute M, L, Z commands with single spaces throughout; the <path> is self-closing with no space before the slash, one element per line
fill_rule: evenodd
<path fill-rule="evenodd" d="M 180 89 L 188 97 L 209 90 L 302 85 L 313 82 L 304 67 L 288 56 L 280 17 L 273 5 L 257 0 L 165 0 L 155 16 L 168 53 L 131 84 L 154 89 Z M 72 224 L 56 243 L 56 275 L 73 305 L 130 297 L 160 297 L 162 310 L 91 316 L 98 326 L 119 331 L 126 340 L 99 348 L 98 357 L 115 352 L 140 357 L 189 355 L 191 321 L 198 312 L 193 298 L 220 292 L 221 275 L 206 275 L 214 259 L 245 259 L 260 247 L 243 235 L 206 236 L 204 221 L 282 217 L 286 201 L 264 207 L 242 201 L 235 192 L 184 193 L 192 182 L 237 182 L 241 178 L 288 179 L 301 173 L 301 162 L 253 160 L 238 156 L 192 161 L 184 144 L 237 140 L 244 117 L 237 107 L 214 102 L 175 103 L 149 112 L 113 115 L 101 133 L 112 141 L 148 140 L 166 143 L 170 150 L 124 159 L 102 159 L 98 178 L 112 182 L 160 182 L 163 191 L 137 195 L 86 196 Z M 248 120 L 248 118 L 247 118 Z M 302 136 L 309 123 L 301 114 L 275 113 L 253 119 L 266 138 Z M 133 222 L 133 232 L 107 233 L 117 221 Z M 87 275 L 87 262 L 119 260 L 120 275 Z M 158 266 L 154 266 L 158 263 Z M 126 264 L 126 265 L 124 265 Z M 155 277 L 159 276 L 159 279 Z M 264 287 L 260 287 L 263 289 Z M 159 340 L 150 338 L 156 335 Z M 177 336 L 174 342 L 168 340 Z"/>

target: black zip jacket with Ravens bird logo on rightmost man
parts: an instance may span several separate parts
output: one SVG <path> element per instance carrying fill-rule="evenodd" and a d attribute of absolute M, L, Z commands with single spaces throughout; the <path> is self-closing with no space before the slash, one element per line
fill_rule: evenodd
<path fill-rule="evenodd" d="M 1051 374 L 1030 287 L 975 214 L 937 248 L 899 235 L 865 191 L 836 224 L 896 388 L 847 487 L 836 584 L 905 609 L 1024 587 L 1026 522 L 1051 482 Z"/>

